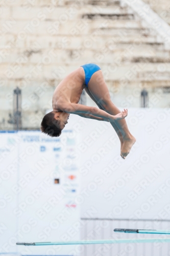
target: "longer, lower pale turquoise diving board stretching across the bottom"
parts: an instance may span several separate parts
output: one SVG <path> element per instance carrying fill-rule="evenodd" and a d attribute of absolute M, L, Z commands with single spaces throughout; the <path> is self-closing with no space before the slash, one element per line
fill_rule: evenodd
<path fill-rule="evenodd" d="M 40 246 L 40 245 L 76 245 L 76 244 L 124 244 L 124 243 L 170 243 L 170 238 L 164 239 L 115 239 L 115 240 L 89 240 L 69 242 L 37 242 L 37 243 L 16 243 L 16 245 Z"/>

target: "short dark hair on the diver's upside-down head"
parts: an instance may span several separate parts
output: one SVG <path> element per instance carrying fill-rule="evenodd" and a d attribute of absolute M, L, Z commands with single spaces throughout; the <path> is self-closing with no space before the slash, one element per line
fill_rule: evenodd
<path fill-rule="evenodd" d="M 61 129 L 59 128 L 60 121 L 54 118 L 54 112 L 46 114 L 41 122 L 41 132 L 51 137 L 59 137 Z"/>

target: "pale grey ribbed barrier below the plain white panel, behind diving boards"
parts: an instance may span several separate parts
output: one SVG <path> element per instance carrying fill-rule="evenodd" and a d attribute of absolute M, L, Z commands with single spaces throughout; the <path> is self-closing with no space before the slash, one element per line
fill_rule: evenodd
<path fill-rule="evenodd" d="M 170 220 L 82 218 L 81 239 L 169 238 L 160 234 L 115 233 L 114 228 L 170 229 Z M 81 256 L 168 256 L 170 243 L 84 245 Z"/>

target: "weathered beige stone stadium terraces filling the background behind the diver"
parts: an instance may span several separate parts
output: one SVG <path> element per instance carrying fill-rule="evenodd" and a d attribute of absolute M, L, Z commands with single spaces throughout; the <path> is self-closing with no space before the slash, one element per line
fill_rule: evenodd
<path fill-rule="evenodd" d="M 84 63 L 98 64 L 120 108 L 170 105 L 169 50 L 117 1 L 7 0 L 0 6 L 0 129 L 11 124 L 13 90 L 22 90 L 22 127 L 37 129 L 57 84 Z M 87 97 L 87 104 L 93 104 Z"/>

